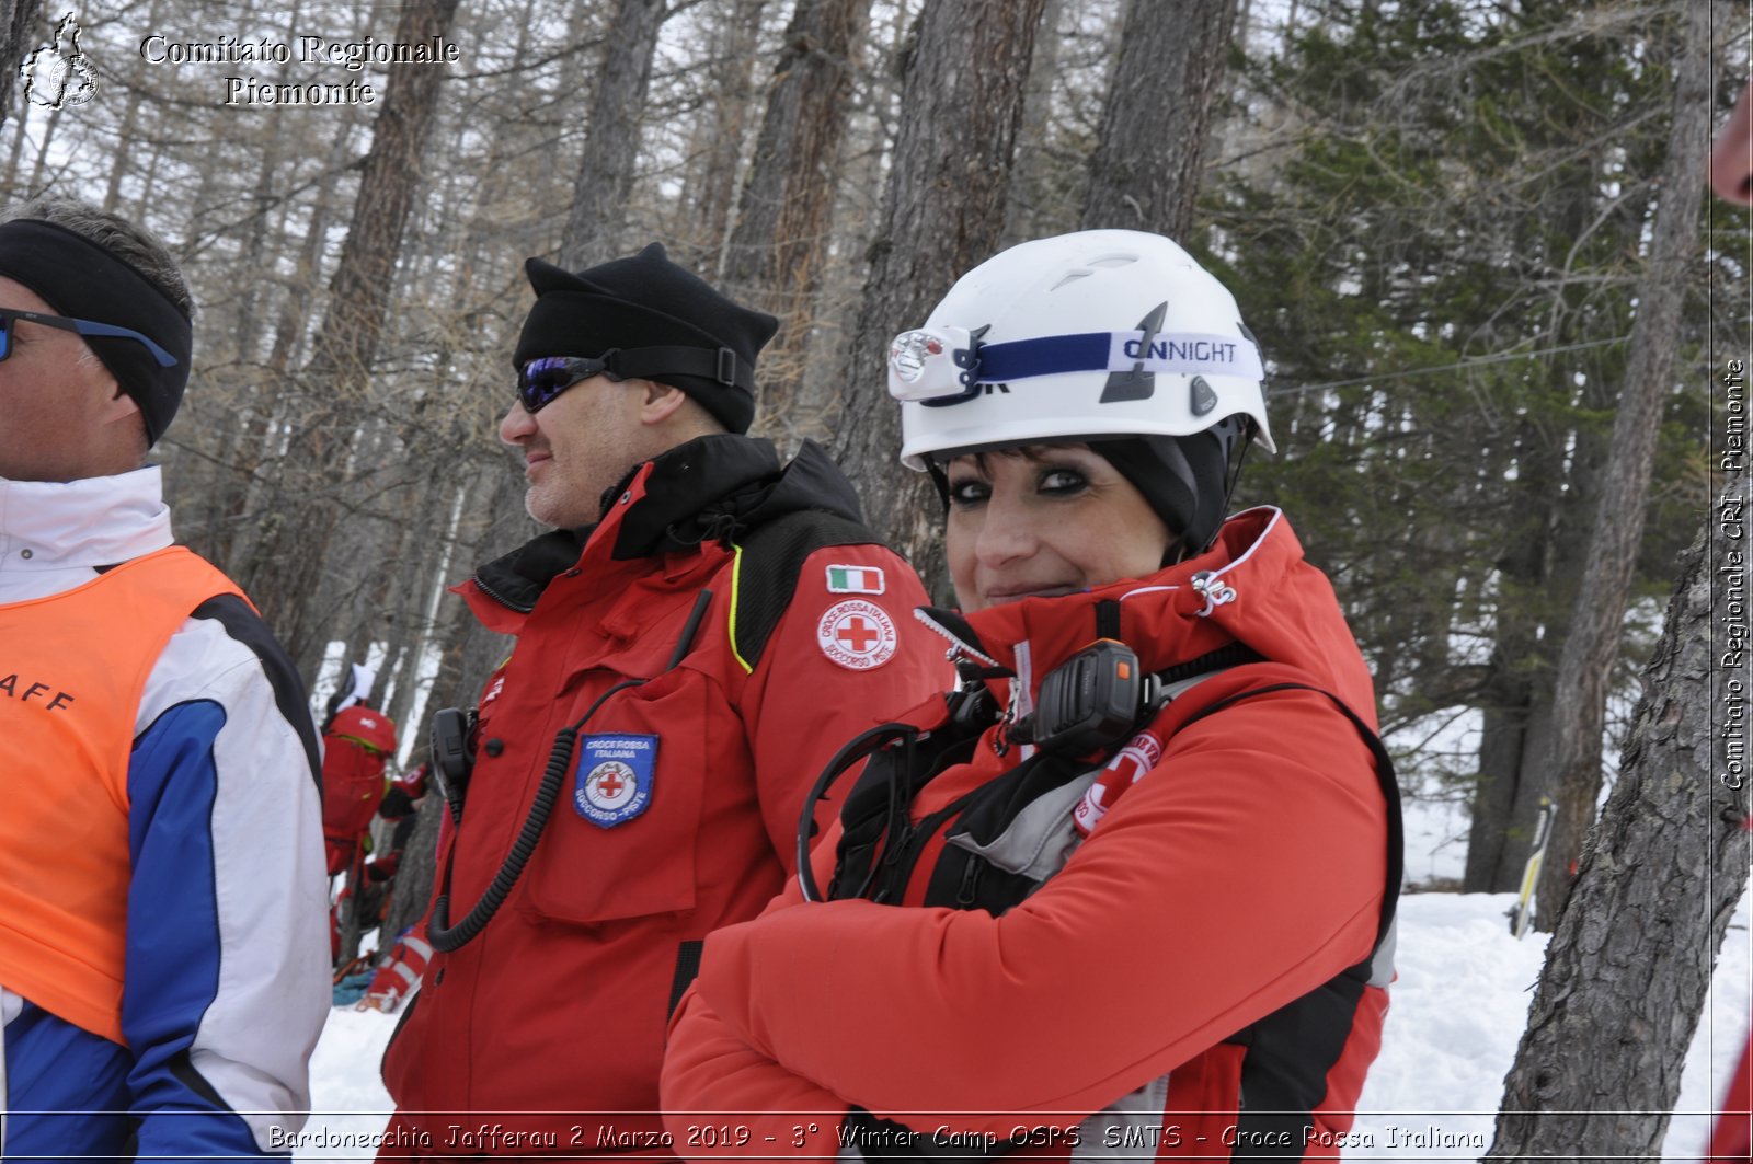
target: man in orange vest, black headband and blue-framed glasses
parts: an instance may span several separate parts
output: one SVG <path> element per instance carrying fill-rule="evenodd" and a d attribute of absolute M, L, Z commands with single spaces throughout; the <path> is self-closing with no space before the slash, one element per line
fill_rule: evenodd
<path fill-rule="evenodd" d="M 326 1017 L 291 661 L 142 468 L 193 305 L 77 202 L 0 214 L 0 1155 L 282 1153 Z"/>

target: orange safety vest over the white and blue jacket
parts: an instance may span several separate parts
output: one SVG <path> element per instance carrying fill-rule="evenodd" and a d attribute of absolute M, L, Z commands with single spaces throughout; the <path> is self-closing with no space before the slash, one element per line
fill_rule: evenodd
<path fill-rule="evenodd" d="M 0 605 L 0 985 L 123 1043 L 128 759 L 165 643 L 242 591 L 168 549 Z"/>

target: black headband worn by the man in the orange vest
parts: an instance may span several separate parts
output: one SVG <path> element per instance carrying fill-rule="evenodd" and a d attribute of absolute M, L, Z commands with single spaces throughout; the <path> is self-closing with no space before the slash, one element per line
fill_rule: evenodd
<path fill-rule="evenodd" d="M 188 314 L 126 259 L 39 219 L 0 223 L 0 275 L 25 284 L 61 316 L 130 328 L 177 358 L 161 368 L 137 340 L 84 337 L 121 391 L 140 405 L 147 444 L 158 444 L 189 382 L 195 330 Z"/>

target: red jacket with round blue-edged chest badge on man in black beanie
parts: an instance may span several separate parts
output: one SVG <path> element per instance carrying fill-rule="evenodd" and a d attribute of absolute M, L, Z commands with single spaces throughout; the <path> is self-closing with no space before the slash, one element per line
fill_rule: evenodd
<path fill-rule="evenodd" d="M 479 938 L 433 957 L 391 1041 L 401 1127 L 429 1131 L 436 1153 L 659 1141 L 664 1022 L 699 941 L 780 889 L 840 743 L 948 678 L 943 642 L 910 617 L 919 578 L 882 545 L 810 552 L 789 601 L 740 593 L 750 529 L 855 505 L 813 445 L 780 472 L 766 442 L 706 436 L 642 466 L 582 549 L 556 531 L 461 587 L 517 645 L 482 694 L 463 822 L 440 854 L 452 924 L 512 848 L 556 733 L 614 684 L 649 682 L 584 724 L 522 878 Z M 703 589 L 705 619 L 666 670 Z M 756 607 L 775 601 L 750 659 Z M 452 1124 L 507 1134 L 452 1138 Z"/>

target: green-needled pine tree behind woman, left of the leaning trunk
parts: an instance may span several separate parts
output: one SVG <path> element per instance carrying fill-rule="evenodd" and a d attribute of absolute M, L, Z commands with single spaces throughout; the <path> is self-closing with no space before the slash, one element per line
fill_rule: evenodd
<path fill-rule="evenodd" d="M 1250 70 L 1301 144 L 1213 207 L 1211 259 L 1273 363 L 1281 454 L 1243 489 L 1334 575 L 1387 728 L 1483 724 L 1476 752 L 1406 764 L 1473 785 L 1467 889 L 1515 885 L 1544 787 L 1525 777 L 1625 382 L 1674 35 L 1622 4 L 1308 5 Z M 1678 487 L 1646 501 L 1643 596 L 1704 500 L 1700 401 L 1660 401 L 1655 479 Z"/>

